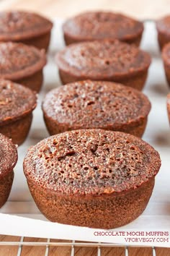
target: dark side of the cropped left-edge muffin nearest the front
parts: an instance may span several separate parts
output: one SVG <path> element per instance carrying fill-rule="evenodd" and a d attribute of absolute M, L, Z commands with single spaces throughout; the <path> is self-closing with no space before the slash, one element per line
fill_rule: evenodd
<path fill-rule="evenodd" d="M 8 200 L 9 194 L 12 189 L 12 183 L 14 179 L 14 171 L 0 179 L 0 208 Z"/>

